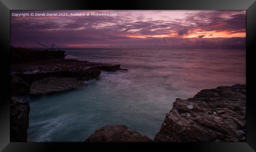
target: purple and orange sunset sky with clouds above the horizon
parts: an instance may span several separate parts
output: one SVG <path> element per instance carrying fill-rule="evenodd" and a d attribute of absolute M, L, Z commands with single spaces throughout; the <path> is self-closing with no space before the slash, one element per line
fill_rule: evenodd
<path fill-rule="evenodd" d="M 34 13 L 34 16 L 13 16 Z M 35 16 L 67 13 L 69 16 Z M 90 16 L 71 16 L 89 13 Z M 116 16 L 91 16 L 115 13 Z M 245 49 L 246 11 L 11 11 L 11 46 L 60 48 Z"/>

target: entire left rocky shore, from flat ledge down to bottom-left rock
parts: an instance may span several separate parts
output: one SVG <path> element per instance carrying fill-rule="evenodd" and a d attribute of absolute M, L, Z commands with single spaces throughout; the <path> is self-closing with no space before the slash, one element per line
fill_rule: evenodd
<path fill-rule="evenodd" d="M 69 59 L 15 62 L 10 65 L 11 76 L 11 141 L 26 142 L 29 126 L 28 94 L 40 96 L 87 86 L 80 80 L 100 76 L 101 71 L 118 71 L 119 64 L 87 62 Z"/>

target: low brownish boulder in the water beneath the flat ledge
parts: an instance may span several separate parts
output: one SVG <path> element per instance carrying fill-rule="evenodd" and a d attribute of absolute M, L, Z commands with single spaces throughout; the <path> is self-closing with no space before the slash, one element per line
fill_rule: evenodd
<path fill-rule="evenodd" d="M 87 84 L 77 81 L 76 78 L 48 77 L 32 83 L 30 95 L 50 94 L 74 88 L 81 88 Z"/>

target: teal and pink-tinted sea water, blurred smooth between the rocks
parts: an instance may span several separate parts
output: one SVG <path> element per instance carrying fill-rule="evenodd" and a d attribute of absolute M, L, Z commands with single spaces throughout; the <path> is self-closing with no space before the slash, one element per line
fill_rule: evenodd
<path fill-rule="evenodd" d="M 176 98 L 246 82 L 246 52 L 230 49 L 65 49 L 66 58 L 118 63 L 87 87 L 30 101 L 29 142 L 83 142 L 124 124 L 154 139 Z"/>

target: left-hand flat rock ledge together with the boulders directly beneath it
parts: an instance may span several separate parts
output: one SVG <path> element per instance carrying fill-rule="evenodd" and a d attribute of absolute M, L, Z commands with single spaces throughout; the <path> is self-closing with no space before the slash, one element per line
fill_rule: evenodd
<path fill-rule="evenodd" d="M 119 64 L 71 59 L 38 60 L 11 63 L 11 94 L 25 96 L 61 92 L 86 86 L 79 80 L 100 76 L 101 71 L 118 71 Z"/>

